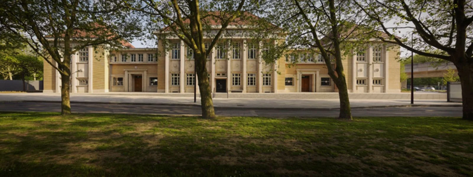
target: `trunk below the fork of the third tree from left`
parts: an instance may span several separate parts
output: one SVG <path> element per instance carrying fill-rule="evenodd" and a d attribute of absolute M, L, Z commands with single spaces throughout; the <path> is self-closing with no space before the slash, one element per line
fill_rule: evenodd
<path fill-rule="evenodd" d="M 338 115 L 338 118 L 352 120 L 353 118 L 351 117 L 350 99 L 348 97 L 345 75 L 339 75 L 335 83 L 338 88 L 338 96 L 340 99 L 340 114 Z"/>

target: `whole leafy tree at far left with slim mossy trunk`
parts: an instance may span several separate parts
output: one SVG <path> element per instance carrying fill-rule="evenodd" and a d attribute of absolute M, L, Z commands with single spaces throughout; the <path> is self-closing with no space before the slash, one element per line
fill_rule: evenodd
<path fill-rule="evenodd" d="M 0 4 L 0 16 L 0 29 L 59 71 L 62 115 L 70 114 L 71 54 L 88 46 L 121 46 L 139 35 L 139 17 L 107 0 L 10 0 Z"/>

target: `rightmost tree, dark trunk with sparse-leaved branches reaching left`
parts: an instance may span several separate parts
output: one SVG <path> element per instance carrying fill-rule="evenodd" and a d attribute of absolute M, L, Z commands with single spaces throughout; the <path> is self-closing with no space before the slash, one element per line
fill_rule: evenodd
<path fill-rule="evenodd" d="M 390 36 L 392 40 L 386 42 L 454 63 L 462 85 L 463 118 L 473 120 L 473 0 L 363 0 L 354 3 Z M 389 27 L 390 21 L 395 21 L 396 26 Z M 395 35 L 400 28 L 412 29 L 413 40 L 407 40 L 411 36 L 397 38 Z M 436 50 L 442 53 L 429 52 Z"/>

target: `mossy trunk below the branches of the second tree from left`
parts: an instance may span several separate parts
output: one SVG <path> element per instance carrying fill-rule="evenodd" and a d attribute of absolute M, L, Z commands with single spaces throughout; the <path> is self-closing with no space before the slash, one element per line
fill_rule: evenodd
<path fill-rule="evenodd" d="M 199 60 L 198 58 L 199 57 Z M 206 57 L 196 56 L 197 76 L 199 79 L 199 91 L 201 92 L 201 108 L 202 117 L 213 119 L 215 118 L 215 109 L 213 108 L 212 90 L 210 89 L 209 76 L 206 69 Z"/>

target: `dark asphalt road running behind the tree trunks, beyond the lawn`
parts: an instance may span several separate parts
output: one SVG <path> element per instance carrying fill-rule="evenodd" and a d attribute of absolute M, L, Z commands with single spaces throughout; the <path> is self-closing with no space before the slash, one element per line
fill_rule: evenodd
<path fill-rule="evenodd" d="M 199 106 L 71 104 L 75 113 L 200 115 Z M 61 112 L 60 103 L 0 103 L 0 111 Z M 338 116 L 337 109 L 215 108 L 221 116 Z M 352 109 L 353 116 L 462 116 L 462 107 L 387 107 Z"/>

